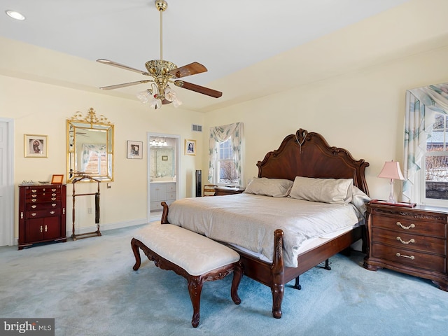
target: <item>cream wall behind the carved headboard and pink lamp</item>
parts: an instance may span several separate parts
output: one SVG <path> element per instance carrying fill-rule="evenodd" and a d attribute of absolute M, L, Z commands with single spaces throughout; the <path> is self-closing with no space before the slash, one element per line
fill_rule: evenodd
<path fill-rule="evenodd" d="M 321 133 L 330 146 L 346 148 L 370 163 L 370 196 L 384 199 L 388 181 L 376 176 L 386 160 L 402 162 L 405 91 L 448 81 L 447 59 L 448 47 L 438 48 L 335 76 L 207 113 L 204 128 L 244 123 L 246 181 L 257 176 L 256 162 L 279 148 L 286 135 L 299 128 Z M 400 183 L 395 188 L 398 194 Z"/>

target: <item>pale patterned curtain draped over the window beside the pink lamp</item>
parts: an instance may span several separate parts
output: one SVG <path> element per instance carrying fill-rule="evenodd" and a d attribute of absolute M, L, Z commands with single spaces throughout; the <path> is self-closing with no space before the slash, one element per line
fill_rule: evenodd
<path fill-rule="evenodd" d="M 424 164 L 426 140 L 430 137 L 435 113 L 448 113 L 448 83 L 418 87 L 406 92 L 405 155 L 403 196 L 416 202 L 414 183 Z"/>

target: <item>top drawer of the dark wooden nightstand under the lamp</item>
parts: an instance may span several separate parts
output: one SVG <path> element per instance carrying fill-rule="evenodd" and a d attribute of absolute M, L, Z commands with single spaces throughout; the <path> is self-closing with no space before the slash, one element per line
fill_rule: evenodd
<path fill-rule="evenodd" d="M 378 216 L 376 213 L 372 216 L 372 227 L 396 230 L 398 232 L 430 235 L 433 237 L 446 238 L 446 222 L 423 221 L 421 219 L 410 218 L 409 216 Z"/>

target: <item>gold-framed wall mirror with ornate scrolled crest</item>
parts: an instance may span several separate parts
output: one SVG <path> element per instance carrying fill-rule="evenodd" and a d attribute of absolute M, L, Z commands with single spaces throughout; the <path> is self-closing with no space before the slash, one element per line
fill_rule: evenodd
<path fill-rule="evenodd" d="M 80 175 L 113 181 L 113 124 L 90 108 L 68 119 L 66 132 L 67 183 Z"/>

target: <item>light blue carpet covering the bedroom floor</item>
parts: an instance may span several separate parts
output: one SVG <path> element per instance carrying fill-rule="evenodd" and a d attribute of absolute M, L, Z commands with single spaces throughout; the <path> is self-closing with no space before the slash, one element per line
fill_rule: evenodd
<path fill-rule="evenodd" d="M 185 279 L 143 253 L 140 269 L 132 270 L 136 230 L 0 248 L 0 317 L 55 318 L 57 336 L 447 335 L 448 293 L 428 280 L 367 271 L 358 252 L 335 255 L 331 271 L 310 269 L 300 276 L 302 290 L 287 286 L 278 320 L 268 287 L 244 277 L 236 305 L 231 276 L 204 283 L 193 328 Z"/>

